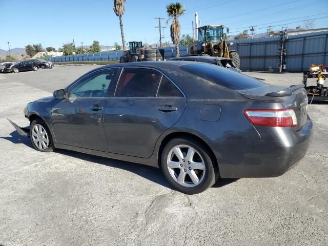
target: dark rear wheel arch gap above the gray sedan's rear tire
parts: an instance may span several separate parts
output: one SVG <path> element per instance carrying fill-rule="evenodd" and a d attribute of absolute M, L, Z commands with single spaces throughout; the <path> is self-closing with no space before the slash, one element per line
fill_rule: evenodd
<path fill-rule="evenodd" d="M 157 150 L 157 163 L 158 163 L 159 168 L 161 168 L 161 155 L 162 155 L 162 151 L 163 151 L 164 147 L 168 144 L 168 142 L 170 140 L 172 140 L 174 138 L 181 138 L 181 137 L 182 138 L 183 137 L 190 138 L 190 139 L 194 139 L 196 141 L 201 142 L 209 151 L 212 161 L 215 163 L 216 168 L 218 168 L 218 170 L 219 170 L 219 165 L 218 165 L 217 159 L 216 159 L 215 154 L 214 154 L 213 150 L 211 149 L 211 147 L 201 137 L 199 137 L 195 134 L 189 133 L 189 132 L 172 132 L 172 133 L 166 135 L 161 140 L 160 145 Z"/>

